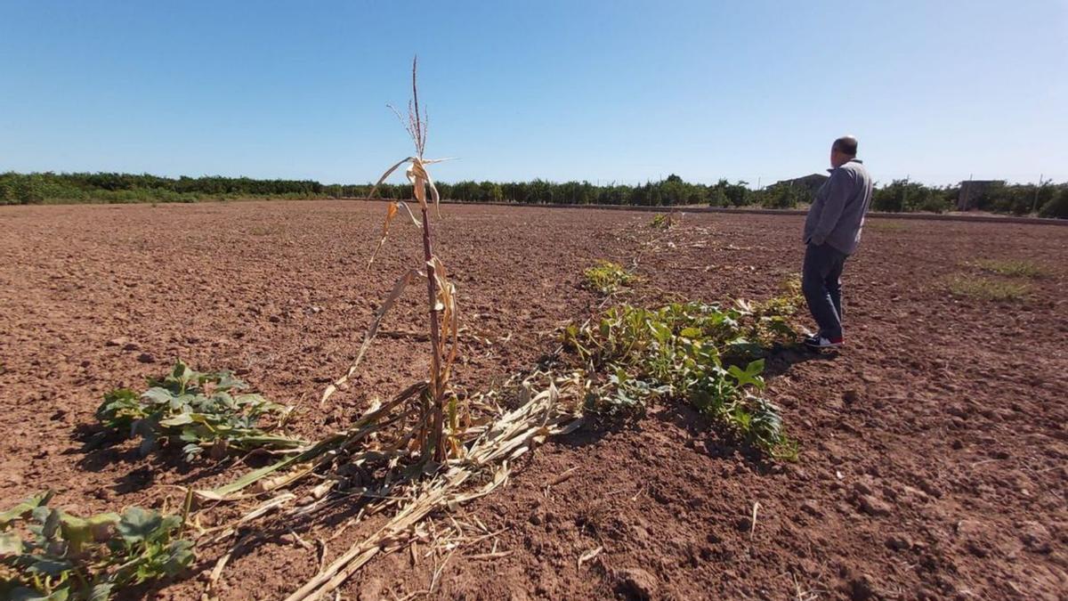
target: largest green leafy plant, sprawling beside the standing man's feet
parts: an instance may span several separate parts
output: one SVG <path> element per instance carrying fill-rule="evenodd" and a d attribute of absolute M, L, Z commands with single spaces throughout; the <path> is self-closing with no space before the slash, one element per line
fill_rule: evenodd
<path fill-rule="evenodd" d="M 791 292 L 732 308 L 623 305 L 569 326 L 564 344 L 587 374 L 602 374 L 592 377 L 587 409 L 633 413 L 658 398 L 686 400 L 761 451 L 792 459 L 797 446 L 779 407 L 758 392 L 765 388 L 760 357 L 769 345 L 795 338 L 787 319 L 799 303 Z"/>

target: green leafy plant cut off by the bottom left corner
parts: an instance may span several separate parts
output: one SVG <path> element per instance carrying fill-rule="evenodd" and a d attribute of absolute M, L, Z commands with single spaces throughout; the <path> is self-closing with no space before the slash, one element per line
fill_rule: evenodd
<path fill-rule="evenodd" d="M 0 597 L 105 601 L 125 586 L 174 576 L 193 560 L 178 515 L 140 507 L 78 518 L 41 493 L 0 513 Z"/>

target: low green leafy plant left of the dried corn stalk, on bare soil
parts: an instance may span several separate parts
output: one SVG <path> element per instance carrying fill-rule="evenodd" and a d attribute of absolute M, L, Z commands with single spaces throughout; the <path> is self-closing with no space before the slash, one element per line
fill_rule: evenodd
<path fill-rule="evenodd" d="M 150 379 L 148 386 L 142 394 L 116 388 L 96 410 L 106 428 L 140 435 L 142 454 L 172 440 L 186 443 L 187 461 L 205 449 L 222 457 L 229 449 L 296 449 L 307 444 L 257 426 L 268 415 L 281 423 L 292 407 L 241 394 L 248 385 L 229 371 L 200 372 L 179 360 L 170 373 Z"/>

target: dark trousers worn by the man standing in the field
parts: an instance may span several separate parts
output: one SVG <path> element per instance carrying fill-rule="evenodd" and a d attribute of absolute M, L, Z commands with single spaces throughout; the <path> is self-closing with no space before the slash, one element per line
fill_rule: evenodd
<path fill-rule="evenodd" d="M 801 291 L 819 336 L 829 340 L 842 338 L 842 267 L 848 257 L 829 244 L 810 243 L 804 251 Z"/>

